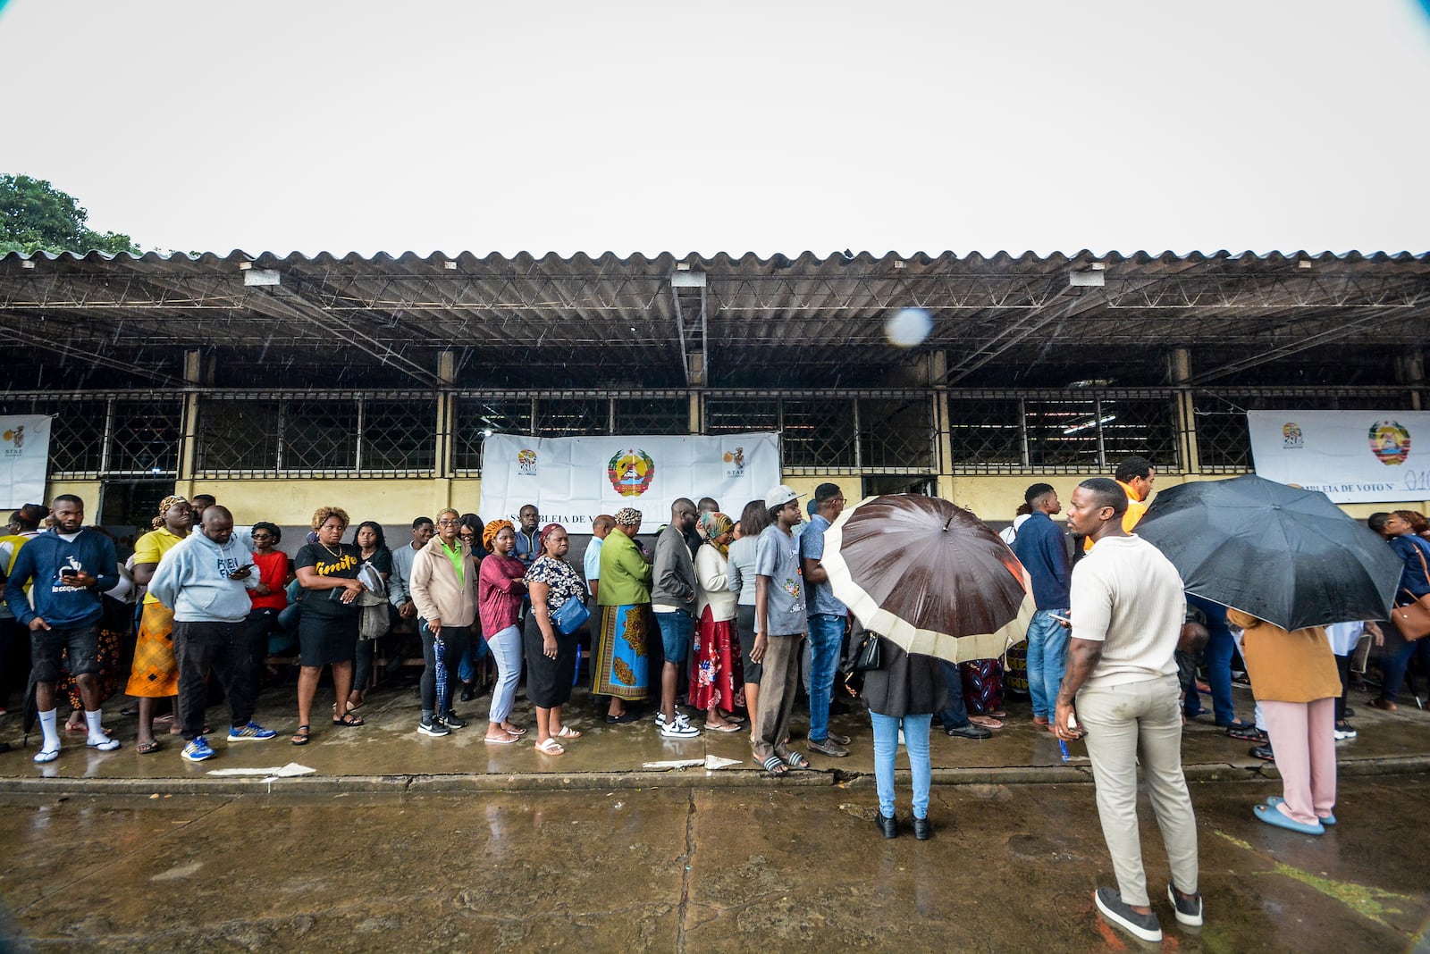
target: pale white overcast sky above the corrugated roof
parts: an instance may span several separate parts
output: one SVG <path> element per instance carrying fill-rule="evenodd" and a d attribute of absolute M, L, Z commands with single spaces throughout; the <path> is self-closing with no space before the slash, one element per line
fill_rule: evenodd
<path fill-rule="evenodd" d="M 146 248 L 1430 250 L 1414 0 L 0 6 L 0 171 Z"/>

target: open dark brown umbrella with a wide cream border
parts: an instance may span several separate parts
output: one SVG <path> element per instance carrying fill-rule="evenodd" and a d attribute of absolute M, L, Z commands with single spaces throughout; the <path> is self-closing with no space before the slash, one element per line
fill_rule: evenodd
<path fill-rule="evenodd" d="M 834 596 L 908 653 L 995 658 L 1028 631 L 1028 571 L 997 533 L 947 500 L 868 497 L 824 541 Z"/>

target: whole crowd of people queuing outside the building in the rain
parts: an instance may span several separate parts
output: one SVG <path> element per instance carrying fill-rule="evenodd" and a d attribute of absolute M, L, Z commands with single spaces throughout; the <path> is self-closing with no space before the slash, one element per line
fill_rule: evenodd
<path fill-rule="evenodd" d="M 1210 717 L 1231 738 L 1251 741 L 1251 754 L 1277 763 L 1283 794 L 1256 805 L 1258 818 L 1320 834 L 1336 824 L 1336 741 L 1357 731 L 1346 706 L 1353 653 L 1379 647 L 1380 694 L 1370 706 L 1386 711 L 1396 710 L 1411 660 L 1430 663 L 1430 640 L 1407 640 L 1389 621 L 1287 633 L 1185 597 L 1171 563 L 1133 533 L 1154 480 L 1151 461 L 1133 457 L 1111 480 L 1081 481 L 1065 528 L 1052 521 L 1062 511 L 1058 491 L 1032 484 L 1002 534 L 1037 606 L 1017 664 L 1032 723 L 1064 743 L 1085 741 L 1118 883 L 1097 891 L 1097 907 L 1143 940 L 1161 930 L 1137 837 L 1138 760 L 1167 845 L 1168 901 L 1178 921 L 1200 924 L 1195 821 L 1180 754 L 1185 721 Z M 163 748 L 159 728 L 167 725 L 182 735 L 184 760 L 213 757 L 207 710 L 219 691 L 229 744 L 272 740 L 277 733 L 256 720 L 255 706 L 285 643 L 296 643 L 299 667 L 287 741 L 306 745 L 315 723 L 327 727 L 329 717 L 335 731 L 356 730 L 380 640 L 410 641 L 389 648 L 399 660 L 420 644 L 418 733 L 439 738 L 466 728 L 456 706 L 485 691 L 495 670 L 485 741 L 526 738 L 556 757 L 582 735 L 563 707 L 581 678 L 578 638 L 588 631 L 589 688 L 606 723 L 654 710 L 655 731 L 668 740 L 748 733 L 772 777 L 808 768 L 811 757 L 849 754 L 851 740 L 831 730 L 829 717 L 848 711 L 857 691 L 872 723 L 878 828 L 889 838 L 899 831 L 894 760 L 902 741 L 911 827 L 924 840 L 932 725 L 962 738 L 1002 728 L 1015 653 L 1010 668 L 1004 660 L 951 664 L 871 637 L 879 640 L 879 666 L 852 673 L 864 634 L 822 564 L 825 534 L 844 507 L 832 483 L 804 503 L 781 484 L 738 517 L 708 497 L 678 498 L 654 540 L 638 537 L 645 516 L 626 507 L 595 517 L 578 570 L 566 528 L 539 526 L 536 504 L 522 507 L 515 524 L 458 510 L 418 517 L 410 538 L 393 544 L 379 523 L 352 530 L 345 510 L 320 507 L 290 558 L 273 523 L 235 526 L 213 497 L 173 496 L 120 560 L 103 530 L 84 526 L 83 501 L 64 494 L 51 507 L 14 511 L 0 537 L 0 660 L 11 641 L 29 644 L 41 733 L 36 763 L 59 757 L 61 703 L 72 710 L 66 731 L 97 751 L 120 748 L 102 723 L 103 703 L 119 693 L 134 698 L 140 754 Z M 1403 594 L 1430 593 L 1424 517 L 1376 514 L 1370 527 L 1403 563 Z M 315 716 L 325 668 L 332 711 Z M 523 676 L 535 707 L 529 725 L 512 720 Z M 1236 711 L 1234 677 L 1250 681 L 1254 713 Z M 795 745 L 801 683 L 808 735 Z"/>

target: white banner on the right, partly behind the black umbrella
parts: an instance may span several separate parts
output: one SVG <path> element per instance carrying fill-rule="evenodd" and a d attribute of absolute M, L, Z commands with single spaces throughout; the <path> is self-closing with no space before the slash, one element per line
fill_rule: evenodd
<path fill-rule="evenodd" d="M 1247 411 L 1247 430 L 1267 480 L 1338 504 L 1430 500 L 1430 411 Z"/>

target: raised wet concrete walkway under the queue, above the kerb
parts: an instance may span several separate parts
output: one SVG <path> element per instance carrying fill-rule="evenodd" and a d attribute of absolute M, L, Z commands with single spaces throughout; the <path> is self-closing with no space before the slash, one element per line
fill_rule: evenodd
<path fill-rule="evenodd" d="M 1357 710 L 1353 720 L 1360 737 L 1337 744 L 1340 771 L 1344 777 L 1430 771 L 1430 713 L 1401 704 L 1399 713 L 1380 713 L 1366 704 L 1369 696 L 1353 691 Z M 622 725 L 605 723 L 603 706 L 578 688 L 566 708 L 566 723 L 583 737 L 566 744 L 566 754 L 543 755 L 529 741 L 513 745 L 488 745 L 482 741 L 489 697 L 458 703 L 456 710 L 470 724 L 445 738 L 430 738 L 416 731 L 419 717 L 415 687 L 379 688 L 369 694 L 360 710 L 368 724 L 340 728 L 330 723 L 330 690 L 319 691 L 313 740 L 309 745 L 289 744 L 296 725 L 293 688 L 265 691 L 257 718 L 277 730 L 266 743 L 227 744 L 227 710 L 209 710 L 210 724 L 220 731 L 210 735 L 217 755 L 200 764 L 179 757 L 182 740 L 162 737 L 164 748 L 140 755 L 134 751 L 134 718 L 119 714 L 124 700 L 106 706 L 104 724 L 124 747 L 114 753 L 84 748 L 83 734 L 64 734 L 60 758 L 36 765 L 37 734 L 29 747 L 0 754 L 0 793 L 403 793 L 472 790 L 552 790 L 552 788 L 649 788 L 649 787 L 828 787 L 832 784 L 872 784 L 874 751 L 868 713 L 859 708 L 831 721 L 834 731 L 852 737 L 851 755 L 829 758 L 809 754 L 811 771 L 791 773 L 772 781 L 752 761 L 748 734 L 702 733 L 694 740 L 664 740 L 654 718 Z M 1251 716 L 1251 696 L 1236 690 L 1237 713 Z M 1057 740 L 1037 730 L 1028 703 L 1010 700 L 1007 725 L 984 741 L 945 735 L 935 727 L 932 738 L 934 778 L 938 784 L 960 783 L 1061 783 L 1091 781 L 1081 744 L 1070 744 L 1072 760 L 1062 763 Z M 652 713 L 654 714 L 654 713 Z M 518 724 L 532 727 L 532 707 L 519 700 L 512 716 Z M 699 720 L 695 720 L 699 725 Z M 808 718 L 797 708 L 792 727 L 795 748 L 808 731 Z M 20 743 L 20 717 L 11 711 L 0 718 L 0 740 Z M 1188 724 L 1183 743 L 1183 763 L 1191 780 L 1244 780 L 1276 777 L 1276 770 L 1248 754 L 1251 743 L 1227 738 L 1207 721 Z M 734 764 L 708 770 L 706 760 L 734 760 Z M 652 768 L 654 763 L 694 761 L 694 767 Z M 289 763 L 315 770 L 290 778 L 272 778 L 265 768 Z M 233 770 L 253 775 L 226 775 Z M 76 788 L 82 784 L 82 788 Z"/>

